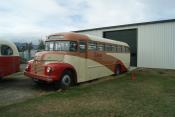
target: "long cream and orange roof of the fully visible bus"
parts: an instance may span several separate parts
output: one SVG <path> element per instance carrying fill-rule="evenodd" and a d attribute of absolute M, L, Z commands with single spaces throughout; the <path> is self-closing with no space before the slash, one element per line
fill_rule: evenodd
<path fill-rule="evenodd" d="M 80 33 L 74 33 L 74 32 L 55 33 L 55 34 L 49 35 L 49 37 L 50 36 L 64 36 L 65 39 L 92 40 L 92 41 L 103 42 L 103 43 L 129 46 L 127 43 L 124 43 L 121 41 L 115 41 L 107 38 L 97 37 L 94 35 L 80 34 Z M 50 41 L 50 40 L 58 40 L 58 39 L 47 39 L 46 41 Z"/>

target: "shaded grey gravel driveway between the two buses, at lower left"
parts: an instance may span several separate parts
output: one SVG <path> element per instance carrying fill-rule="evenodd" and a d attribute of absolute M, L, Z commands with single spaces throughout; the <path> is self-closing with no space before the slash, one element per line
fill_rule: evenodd
<path fill-rule="evenodd" d="M 0 80 L 0 107 L 53 92 L 52 86 L 38 86 L 23 72 Z"/>

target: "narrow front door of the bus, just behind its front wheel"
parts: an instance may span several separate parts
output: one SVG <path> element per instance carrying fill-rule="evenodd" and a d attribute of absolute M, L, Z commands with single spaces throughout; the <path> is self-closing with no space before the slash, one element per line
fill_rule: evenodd
<path fill-rule="evenodd" d="M 86 81 L 87 77 L 87 42 L 80 40 L 79 41 L 79 70 L 78 70 L 78 82 Z"/>

